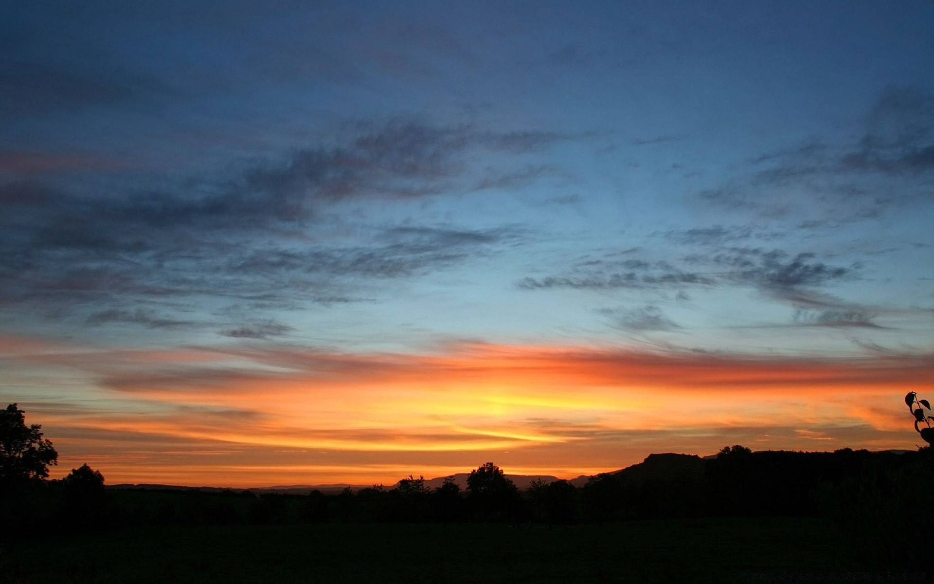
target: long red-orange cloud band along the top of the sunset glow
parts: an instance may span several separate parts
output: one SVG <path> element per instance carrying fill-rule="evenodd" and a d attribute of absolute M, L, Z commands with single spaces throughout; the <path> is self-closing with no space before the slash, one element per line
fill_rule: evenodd
<path fill-rule="evenodd" d="M 632 314 L 639 311 L 637 308 Z M 654 311 L 649 309 L 647 313 Z M 17 359 L 63 364 L 97 375 L 109 371 L 114 375 L 104 379 L 107 387 L 134 392 L 150 388 L 194 396 L 213 388 L 231 392 L 233 397 L 273 387 L 282 392 L 307 392 L 320 384 L 331 387 L 353 384 L 371 389 L 412 384 L 411 388 L 420 388 L 418 392 L 433 392 L 432 387 L 439 379 L 445 380 L 443 385 L 475 388 L 485 380 L 510 374 L 513 377 L 509 378 L 517 383 L 517 391 L 528 390 L 530 396 L 539 394 L 543 399 L 551 396 L 548 399 L 555 400 L 570 399 L 563 391 L 569 383 L 616 386 L 621 379 L 656 389 L 670 387 L 685 394 L 713 395 L 712 391 L 731 394 L 737 389 L 755 387 L 766 392 L 771 387 L 783 387 L 789 395 L 805 396 L 819 386 L 856 392 L 861 388 L 921 383 L 934 367 L 927 352 L 892 351 L 869 357 L 817 358 L 806 354 L 701 354 L 473 343 L 421 355 L 353 353 L 297 345 L 192 347 L 183 352 L 188 355 L 186 360 L 179 359 L 177 349 L 84 349 L 76 353 L 73 349 L 50 350 L 36 345 L 35 349 L 18 354 Z M 532 379 L 541 383 L 533 383 Z M 238 393 L 237 388 L 243 388 L 243 393 Z M 548 388 L 561 391 L 552 394 Z M 471 393 L 468 397 L 473 399 L 477 395 L 484 394 Z"/>

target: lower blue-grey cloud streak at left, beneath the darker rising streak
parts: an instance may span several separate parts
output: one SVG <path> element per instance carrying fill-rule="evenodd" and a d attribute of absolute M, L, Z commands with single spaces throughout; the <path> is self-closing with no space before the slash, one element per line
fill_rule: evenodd
<path fill-rule="evenodd" d="M 362 232 L 367 236 L 356 246 L 272 238 L 271 245 L 258 247 L 241 245 L 238 238 L 192 238 L 132 252 L 31 250 L 0 262 L 0 306 L 91 325 L 223 326 L 188 316 L 204 298 L 213 298 L 242 306 L 231 314 L 256 322 L 269 310 L 374 302 L 378 288 L 369 279 L 426 275 L 489 257 L 521 241 L 523 233 L 511 226 L 398 226 Z M 241 325 L 221 334 L 263 338 L 276 331 Z"/>

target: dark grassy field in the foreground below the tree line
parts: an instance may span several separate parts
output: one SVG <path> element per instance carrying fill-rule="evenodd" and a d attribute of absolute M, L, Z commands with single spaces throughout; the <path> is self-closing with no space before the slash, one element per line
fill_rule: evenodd
<path fill-rule="evenodd" d="M 805 581 L 836 581 L 831 575 L 845 581 L 842 573 L 852 569 L 853 559 L 838 542 L 819 520 L 785 518 L 551 529 L 359 523 L 160 527 L 20 542 L 4 550 L 0 574 L 10 582 L 450 584 L 768 582 L 803 571 L 813 578 Z"/>

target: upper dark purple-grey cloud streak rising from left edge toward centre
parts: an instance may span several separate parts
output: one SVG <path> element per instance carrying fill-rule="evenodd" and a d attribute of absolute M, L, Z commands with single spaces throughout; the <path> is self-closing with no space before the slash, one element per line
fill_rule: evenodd
<path fill-rule="evenodd" d="M 0 218 L 0 250 L 9 252 L 0 262 L 15 255 L 12 248 L 19 255 L 23 249 L 164 250 L 192 234 L 205 238 L 235 231 L 242 237 L 245 232 L 307 226 L 339 201 L 437 195 L 461 178 L 464 150 L 489 148 L 497 136 L 466 125 L 415 121 L 358 124 L 353 130 L 341 145 L 297 149 L 278 162 L 251 164 L 226 184 L 86 194 L 8 181 L 0 184 L 0 201 L 10 210 Z M 521 139 L 499 136 L 510 143 L 559 139 L 533 132 L 520 133 Z M 553 172 L 551 166 L 531 165 L 490 177 L 484 188 L 516 185 Z M 465 184 L 460 192 L 472 188 Z"/>

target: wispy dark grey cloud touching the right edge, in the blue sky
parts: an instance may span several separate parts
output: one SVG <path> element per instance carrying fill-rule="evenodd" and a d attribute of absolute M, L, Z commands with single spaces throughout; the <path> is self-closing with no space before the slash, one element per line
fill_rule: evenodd
<path fill-rule="evenodd" d="M 697 197 L 763 218 L 783 219 L 803 211 L 821 215 L 808 221 L 836 223 L 875 219 L 889 207 L 929 200 L 934 94 L 912 86 L 888 87 L 857 131 L 858 137 L 849 142 L 809 138 L 760 154 L 747 172 L 703 189 Z"/>

